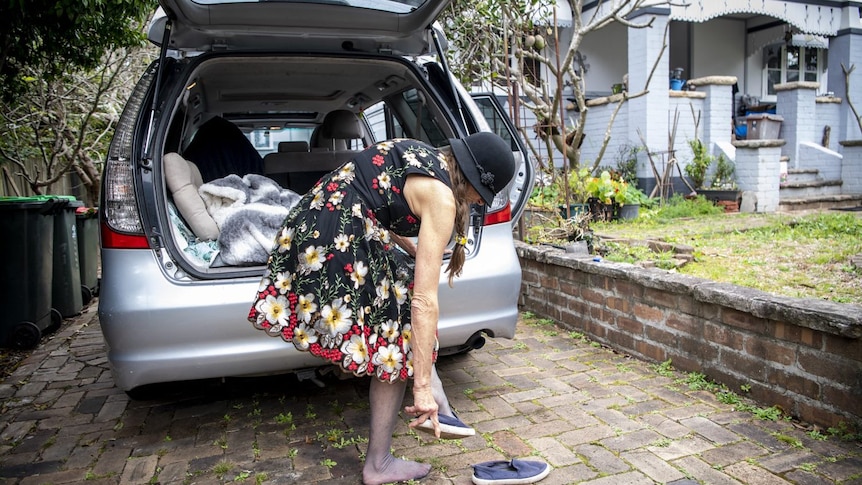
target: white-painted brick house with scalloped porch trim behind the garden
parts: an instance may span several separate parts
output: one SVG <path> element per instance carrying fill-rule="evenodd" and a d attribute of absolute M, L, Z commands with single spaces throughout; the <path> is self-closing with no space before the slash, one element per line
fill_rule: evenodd
<path fill-rule="evenodd" d="M 606 8 L 607 3 L 584 2 L 584 17 L 588 18 L 593 9 Z M 570 8 L 568 0 L 557 1 L 558 18 L 563 19 L 561 46 L 567 45 L 571 36 L 571 22 L 566 24 L 571 12 L 566 9 Z M 641 138 L 650 151 L 667 152 L 669 133 L 678 118 L 673 153 L 683 166 L 691 158 L 687 141 L 698 137 L 713 154 L 722 153 L 737 163 L 743 162 L 738 150 L 755 150 L 743 159 L 780 157 L 785 163 L 775 160 L 774 166 L 790 172 L 789 180 L 782 179 L 782 205 L 792 205 L 796 199 L 843 196 L 850 196 L 849 200 L 859 205 L 859 184 L 848 183 L 842 189 L 841 178 L 844 164 L 862 160 L 845 160 L 841 142 L 862 138 L 844 99 L 842 70 L 842 65 L 857 66 L 850 78 L 850 97 L 862 110 L 860 8 L 862 1 L 854 0 L 686 0 L 679 5 L 644 9 L 630 17 L 635 21 L 652 18 L 651 28 L 615 23 L 591 33 L 580 48 L 589 65 L 586 86 L 591 99 L 582 160 L 595 160 L 608 113 L 618 99 L 610 96 L 612 86 L 627 77 L 630 91 L 646 87 L 649 93 L 623 106 L 603 166 L 614 165 L 621 147 L 641 146 Z M 645 86 L 665 40 L 668 48 L 658 59 L 649 86 Z M 553 55 L 553 48 L 548 51 Z M 686 87 L 693 91 L 670 90 L 669 75 L 676 68 L 682 69 Z M 757 147 L 737 140 L 744 139 L 736 126 L 745 124 L 746 113 L 761 110 L 783 117 L 780 150 L 773 146 L 761 153 Z M 692 112 L 701 114 L 696 132 Z M 575 113 L 571 114 L 575 118 Z M 520 115 L 522 124 L 532 123 L 529 113 L 522 111 Z M 756 194 L 755 210 L 776 210 L 778 182 L 774 188 L 758 190 L 754 184 L 760 182 L 744 180 L 750 170 L 737 168 L 740 187 Z M 762 168 L 754 170 L 758 177 L 771 177 L 764 176 Z M 781 170 L 776 168 L 776 181 L 782 177 Z M 647 189 L 655 185 L 646 157 L 640 159 L 638 176 Z M 674 186 L 682 191 L 685 187 L 680 182 Z"/>

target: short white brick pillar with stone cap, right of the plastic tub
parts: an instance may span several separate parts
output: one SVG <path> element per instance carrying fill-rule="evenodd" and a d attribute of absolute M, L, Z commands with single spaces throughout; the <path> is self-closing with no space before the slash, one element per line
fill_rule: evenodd
<path fill-rule="evenodd" d="M 815 113 L 819 88 L 820 83 L 801 81 L 775 85 L 775 92 L 778 94 L 775 113 L 784 118 L 778 136 L 787 142 L 781 149 L 781 154 L 790 158 L 789 168 L 801 167 L 800 143 L 819 143 Z"/>

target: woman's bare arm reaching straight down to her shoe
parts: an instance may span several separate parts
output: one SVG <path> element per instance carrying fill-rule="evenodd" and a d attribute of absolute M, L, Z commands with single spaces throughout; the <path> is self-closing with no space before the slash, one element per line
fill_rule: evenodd
<path fill-rule="evenodd" d="M 411 308 L 413 406 L 408 406 L 405 411 L 419 418 L 414 425 L 431 419 L 435 434 L 439 436 L 437 403 L 431 394 L 431 370 L 440 315 L 437 289 L 440 285 L 443 252 L 449 244 L 455 224 L 455 198 L 446 184 L 422 175 L 408 176 L 404 184 L 404 197 L 410 210 L 421 221 Z"/>

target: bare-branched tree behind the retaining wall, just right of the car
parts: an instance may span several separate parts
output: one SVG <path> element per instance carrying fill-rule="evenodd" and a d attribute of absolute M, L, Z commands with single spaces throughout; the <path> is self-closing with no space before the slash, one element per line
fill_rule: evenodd
<path fill-rule="evenodd" d="M 556 176 L 553 154 L 562 156 L 563 176 L 569 169 L 581 168 L 580 144 L 585 137 L 591 109 L 586 102 L 587 65 L 580 53 L 584 38 L 615 23 L 628 29 L 655 28 L 655 15 L 635 17 L 633 14 L 649 7 L 676 5 L 668 0 L 598 0 L 589 2 L 589 10 L 584 12 L 586 2 L 583 0 L 567 0 L 567 3 L 572 11 L 572 27 L 567 30 L 571 38 L 567 40 L 561 40 L 557 34 L 556 2 L 553 0 L 464 0 L 454 5 L 457 6 L 456 10 L 460 7 L 467 13 L 446 20 L 447 27 L 456 27 L 454 30 L 449 29 L 453 32 L 452 39 L 456 44 L 453 51 L 457 52 L 457 59 L 466 61 L 467 71 L 472 73 L 475 69 L 479 72 L 503 73 L 491 79 L 496 86 L 506 90 L 511 103 L 515 105 L 511 109 L 523 107 L 533 114 L 535 124 L 532 127 L 520 126 L 519 130 L 537 165 L 548 169 L 552 176 Z M 478 12 L 487 17 L 480 19 Z M 551 12 L 551 15 L 547 12 Z M 540 15 L 550 18 L 543 18 L 544 22 L 534 21 L 542 18 Z M 553 38 L 546 44 L 544 35 Z M 615 98 L 616 106 L 609 106 L 610 118 L 605 126 L 598 156 L 591 161 L 592 170 L 599 166 L 607 151 L 613 123 L 622 105 L 648 93 L 659 62 L 666 54 L 667 26 L 663 35 L 661 51 L 643 89 L 639 92 L 629 89 L 619 99 Z M 502 42 L 497 39 L 502 39 Z M 474 55 L 478 58 L 468 57 Z M 459 68 L 458 62 L 450 65 L 456 70 Z M 482 65 L 489 67 L 476 67 Z M 539 70 L 542 76 L 532 76 L 532 70 Z M 463 80 L 464 74 L 459 77 Z M 549 81 L 553 84 L 549 84 Z M 564 91 L 567 86 L 571 86 L 571 91 L 568 88 Z M 517 96 L 513 93 L 517 93 Z M 541 155 L 537 150 L 540 144 L 544 144 L 548 155 Z"/>

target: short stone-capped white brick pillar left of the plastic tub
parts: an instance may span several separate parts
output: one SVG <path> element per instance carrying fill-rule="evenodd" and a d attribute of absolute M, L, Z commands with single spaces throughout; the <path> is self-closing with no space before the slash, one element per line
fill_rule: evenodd
<path fill-rule="evenodd" d="M 687 83 L 706 93 L 703 100 L 703 142 L 709 153 L 715 146 L 727 152 L 733 133 L 733 85 L 736 76 L 707 76 L 689 79 Z"/>

